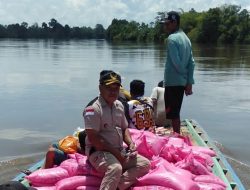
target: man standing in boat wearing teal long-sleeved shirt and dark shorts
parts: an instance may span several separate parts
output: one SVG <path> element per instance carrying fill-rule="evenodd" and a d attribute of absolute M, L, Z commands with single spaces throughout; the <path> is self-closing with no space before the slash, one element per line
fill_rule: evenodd
<path fill-rule="evenodd" d="M 173 131 L 180 133 L 180 110 L 184 92 L 191 95 L 194 84 L 194 58 L 189 38 L 179 28 L 180 15 L 171 11 L 164 20 L 167 39 L 167 60 L 165 64 L 165 109 L 167 119 L 172 120 Z"/>

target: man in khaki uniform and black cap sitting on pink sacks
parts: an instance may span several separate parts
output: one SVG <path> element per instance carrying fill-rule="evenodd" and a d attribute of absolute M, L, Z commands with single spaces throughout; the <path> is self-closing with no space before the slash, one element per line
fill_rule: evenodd
<path fill-rule="evenodd" d="M 83 111 L 87 135 L 85 152 L 91 165 L 104 174 L 100 190 L 127 189 L 150 168 L 149 160 L 136 153 L 124 107 L 117 100 L 120 87 L 119 74 L 101 71 L 100 95 Z M 123 142 L 128 146 L 127 152 Z"/>

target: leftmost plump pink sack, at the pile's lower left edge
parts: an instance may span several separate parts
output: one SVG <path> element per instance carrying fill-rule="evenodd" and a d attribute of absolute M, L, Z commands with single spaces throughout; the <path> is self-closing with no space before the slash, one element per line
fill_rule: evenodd
<path fill-rule="evenodd" d="M 67 170 L 55 167 L 49 169 L 40 169 L 25 178 L 30 181 L 30 183 L 34 186 L 53 186 L 56 182 L 61 179 L 69 177 Z"/>

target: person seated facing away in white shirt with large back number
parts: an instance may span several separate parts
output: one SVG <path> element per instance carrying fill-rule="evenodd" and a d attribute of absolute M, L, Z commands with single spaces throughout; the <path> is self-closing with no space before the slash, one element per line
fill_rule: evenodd
<path fill-rule="evenodd" d="M 141 80 L 130 82 L 131 99 L 128 102 L 130 122 L 129 127 L 155 132 L 153 100 L 143 97 L 145 83 Z"/>

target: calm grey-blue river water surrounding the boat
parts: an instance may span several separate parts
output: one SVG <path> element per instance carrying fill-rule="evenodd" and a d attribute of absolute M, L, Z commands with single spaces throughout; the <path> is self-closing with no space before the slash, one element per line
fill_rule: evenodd
<path fill-rule="evenodd" d="M 193 45 L 194 94 L 182 119 L 195 119 L 247 186 L 250 178 L 250 46 Z M 102 69 L 146 83 L 163 79 L 164 44 L 103 40 L 0 40 L 0 181 L 44 156 L 50 142 L 83 127 L 83 107 L 98 94 Z"/>

